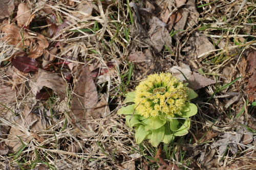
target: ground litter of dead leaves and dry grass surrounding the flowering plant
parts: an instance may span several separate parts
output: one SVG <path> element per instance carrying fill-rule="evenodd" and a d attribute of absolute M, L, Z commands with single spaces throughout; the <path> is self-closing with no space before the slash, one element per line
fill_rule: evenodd
<path fill-rule="evenodd" d="M 251 167 L 256 41 L 248 25 L 255 4 L 244 2 L 4 2 L 0 120 L 9 130 L 1 134 L 2 162 L 49 162 L 35 162 L 39 169 Z M 167 146 L 177 153 L 167 163 L 160 150 L 136 145 L 116 115 L 125 92 L 162 71 L 187 79 L 200 96 L 190 133 Z M 6 155 L 18 147 L 20 155 Z M 39 158 L 25 156 L 35 150 Z"/>

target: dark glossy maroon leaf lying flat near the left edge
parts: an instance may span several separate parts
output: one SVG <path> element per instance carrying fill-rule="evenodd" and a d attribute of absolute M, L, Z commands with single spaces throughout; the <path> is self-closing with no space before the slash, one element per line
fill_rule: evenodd
<path fill-rule="evenodd" d="M 37 70 L 37 62 L 35 59 L 18 56 L 11 59 L 12 65 L 22 72 L 29 72 Z"/>

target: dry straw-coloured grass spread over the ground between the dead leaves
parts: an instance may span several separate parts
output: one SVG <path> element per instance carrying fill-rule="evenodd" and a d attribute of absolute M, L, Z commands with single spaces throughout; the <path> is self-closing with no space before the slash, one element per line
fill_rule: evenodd
<path fill-rule="evenodd" d="M 123 106 L 124 92 L 133 90 L 152 69 L 147 67 L 147 70 L 142 72 L 135 62 L 133 71 L 138 71 L 139 75 L 136 75 L 138 72 L 134 72 L 130 83 L 126 84 L 130 79 L 131 70 L 131 65 L 126 60 L 127 56 L 136 51 L 145 52 L 150 47 L 134 32 L 133 28 L 137 27 L 137 21 L 133 18 L 135 12 L 129 10 L 126 1 L 95 1 L 91 3 L 93 14 L 87 18 L 79 18 L 72 14 L 78 2 L 47 3 L 48 9 L 53 11 L 58 20 L 71 21 L 67 27 L 47 40 L 51 43 L 61 42 L 55 61 L 61 56 L 72 56 L 75 60 L 69 61 L 77 69 L 85 62 L 92 70 L 108 69 L 107 74 L 95 78 L 95 83 L 99 95 L 106 95 L 110 112 L 106 117 L 91 120 L 97 125 L 96 130 L 81 134 L 77 126 L 70 123 L 70 101 L 76 82 L 68 83 L 67 97 L 64 101 L 60 101 L 57 95 L 48 100 L 36 100 L 36 73 L 23 74 L 11 68 L 10 62 L 3 62 L 18 50 L 13 45 L 13 50 L 10 51 L 10 46 L 6 42 L 3 43 L 0 54 L 1 83 L 12 86 L 15 93 L 12 98 L 15 99 L 10 102 L 0 101 L 5 105 L 0 112 L 0 128 L 5 136 L 1 133 L 0 135 L 6 144 L 13 141 L 22 144 L 19 144 L 18 152 L 0 155 L 0 168 L 36 169 L 36 166 L 45 164 L 49 169 L 125 169 L 125 164 L 132 162 L 131 169 L 145 169 L 146 166 L 148 169 L 157 169 L 161 164 L 150 162 L 157 149 L 147 142 L 136 144 L 133 131 L 125 126 L 123 117 L 116 114 L 118 108 Z M 142 5 L 145 2 L 136 3 Z M 207 3 L 209 4 L 206 5 Z M 28 5 L 35 14 L 34 22 L 42 22 L 37 28 L 41 32 L 47 30 L 49 25 L 46 20 L 51 15 L 41 10 L 45 7 L 37 7 L 32 1 L 28 1 Z M 194 70 L 201 68 L 207 78 L 222 81 L 221 86 L 238 77 L 244 78 L 222 90 L 219 90 L 220 87 L 216 84 L 197 90 L 199 98 L 193 102 L 197 104 L 199 112 L 191 120 L 190 133 L 176 138 L 169 145 L 162 144 L 159 148 L 164 151 L 166 162 L 176 163 L 181 169 L 253 169 L 254 139 L 249 144 L 243 144 L 240 140 L 232 141 L 238 147 L 236 153 L 232 153 L 232 147 L 227 147 L 225 152 L 220 154 L 220 146 L 216 143 L 222 139 L 221 135 L 238 136 L 241 131 L 246 130 L 243 126 L 248 129 L 250 123 L 253 124 L 255 121 L 251 115 L 255 108 L 253 110 L 249 106 L 245 93 L 249 75 L 246 71 L 242 72 L 244 65 L 241 59 L 248 55 L 251 48 L 255 49 L 256 4 L 249 0 L 196 2 L 196 6 L 200 5 L 205 6 L 197 8 L 200 14 L 199 22 L 195 26 L 186 25 L 184 31 L 174 35 L 170 51 L 164 47 L 160 53 L 154 53 L 156 61 L 160 62 L 162 58 L 171 65 L 184 62 Z M 130 14 L 133 14 L 133 17 Z M 147 18 L 144 18 L 143 21 L 146 20 Z M 150 28 L 147 24 L 145 23 L 144 29 Z M 248 28 L 249 32 L 243 30 Z M 85 32 L 81 29 L 91 31 Z M 191 44 L 190 37 L 195 35 L 207 37 L 214 49 L 193 56 L 191 49 L 195 46 Z M 109 62 L 114 63 L 114 69 L 108 67 Z M 76 73 L 77 70 L 74 69 L 74 80 L 77 78 Z M 234 92 L 239 93 L 240 97 L 236 99 L 237 94 L 231 94 Z M 215 97 L 210 99 L 211 96 Z M 244 112 L 236 117 L 243 106 Z M 28 125 L 24 116 L 26 107 L 39 116 L 38 121 L 44 129 L 31 130 L 35 122 Z M 17 116 L 19 122 L 15 120 Z M 108 124 L 104 124 L 105 121 Z M 19 131 L 19 134 L 27 135 L 30 137 L 29 140 L 21 141 L 18 136 L 10 135 L 11 128 Z M 255 129 L 250 128 L 252 129 L 248 133 L 252 133 L 254 138 Z M 207 139 L 201 143 L 203 137 Z M 40 168 L 42 169 L 41 166 Z"/>

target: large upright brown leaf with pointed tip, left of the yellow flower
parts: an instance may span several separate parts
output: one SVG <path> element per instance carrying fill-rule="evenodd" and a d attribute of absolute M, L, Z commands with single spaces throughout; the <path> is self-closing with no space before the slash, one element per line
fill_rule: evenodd
<path fill-rule="evenodd" d="M 74 125 L 81 125 L 87 130 L 95 129 L 95 125 L 86 121 L 100 118 L 100 114 L 95 112 L 98 103 L 98 92 L 92 79 L 89 65 L 82 68 L 75 86 L 71 101 L 71 122 Z"/>

